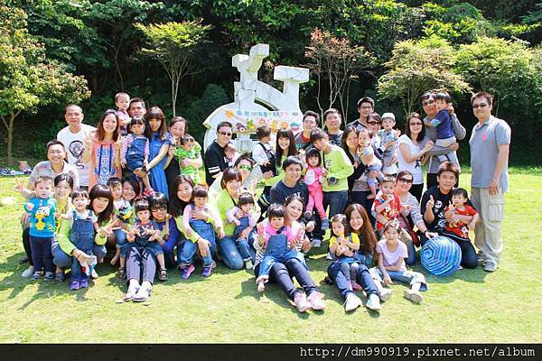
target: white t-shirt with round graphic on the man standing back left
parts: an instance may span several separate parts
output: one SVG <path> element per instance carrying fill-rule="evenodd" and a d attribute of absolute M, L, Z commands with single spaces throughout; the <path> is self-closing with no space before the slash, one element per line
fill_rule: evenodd
<path fill-rule="evenodd" d="M 90 162 L 83 163 L 85 138 L 95 130 L 94 126 L 81 124 L 79 133 L 71 133 L 70 126 L 66 126 L 57 134 L 57 139 L 66 147 L 68 162 L 79 172 L 79 184 L 82 187 L 89 186 L 90 172 Z"/>

